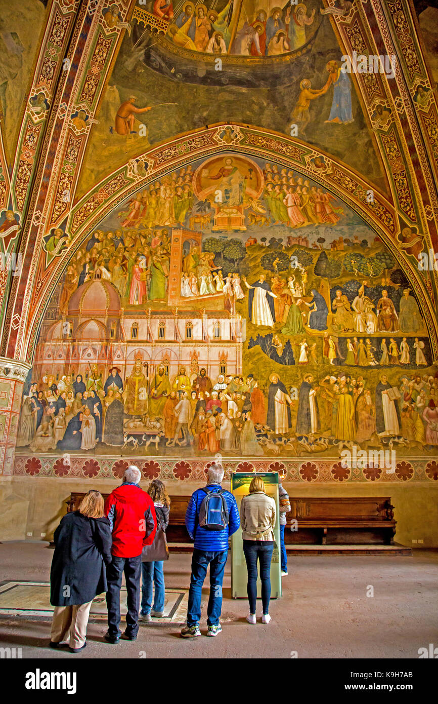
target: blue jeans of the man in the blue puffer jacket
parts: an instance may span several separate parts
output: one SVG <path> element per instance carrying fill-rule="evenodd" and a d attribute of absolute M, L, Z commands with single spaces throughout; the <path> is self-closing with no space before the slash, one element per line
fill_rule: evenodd
<path fill-rule="evenodd" d="M 222 610 L 222 582 L 228 551 L 193 549 L 192 573 L 188 590 L 187 625 L 196 626 L 201 617 L 202 584 L 210 565 L 210 598 L 207 605 L 207 624 L 217 626 Z"/>

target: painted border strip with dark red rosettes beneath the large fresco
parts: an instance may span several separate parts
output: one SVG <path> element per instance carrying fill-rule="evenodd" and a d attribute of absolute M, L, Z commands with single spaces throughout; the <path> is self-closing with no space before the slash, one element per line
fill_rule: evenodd
<path fill-rule="evenodd" d="M 144 479 L 161 479 L 163 482 L 203 482 L 205 472 L 214 458 L 179 460 L 157 457 L 127 457 L 113 459 L 103 456 L 70 455 L 68 459 L 56 455 L 15 453 L 13 474 L 28 477 L 60 477 L 63 479 L 120 479 L 129 464 L 141 470 Z M 430 460 L 401 460 L 394 474 L 387 474 L 380 467 L 363 470 L 344 468 L 340 460 L 275 460 L 266 458 L 222 459 L 226 474 L 230 472 L 281 472 L 284 481 L 333 484 L 370 482 L 377 484 L 397 482 L 438 482 L 438 458 Z"/>

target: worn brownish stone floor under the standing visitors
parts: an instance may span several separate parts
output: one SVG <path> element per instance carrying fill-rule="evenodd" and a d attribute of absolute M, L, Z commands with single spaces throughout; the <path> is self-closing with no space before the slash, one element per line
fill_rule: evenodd
<path fill-rule="evenodd" d="M 1 582 L 49 582 L 53 551 L 47 543 L 0 544 Z M 172 554 L 166 588 L 188 589 L 189 554 Z M 373 588 L 373 590 L 371 589 Z M 367 593 L 373 591 L 373 596 Z M 206 632 L 207 589 L 201 631 Z M 245 621 L 247 602 L 231 599 L 229 560 L 224 579 L 223 631 L 185 641 L 176 624 L 142 624 L 134 643 L 103 641 L 105 624 L 89 624 L 87 648 L 78 655 L 47 648 L 50 620 L 1 615 L 0 647 L 22 648 L 22 658 L 418 658 L 418 648 L 438 645 L 438 551 L 413 557 L 294 556 L 283 577 L 283 598 L 271 602 L 272 622 Z M 32 607 L 32 604 L 30 605 Z M 1 609 L 1 603 L 0 603 Z M 257 615 L 261 605 L 257 603 Z M 142 652 L 143 651 L 143 652 Z"/>

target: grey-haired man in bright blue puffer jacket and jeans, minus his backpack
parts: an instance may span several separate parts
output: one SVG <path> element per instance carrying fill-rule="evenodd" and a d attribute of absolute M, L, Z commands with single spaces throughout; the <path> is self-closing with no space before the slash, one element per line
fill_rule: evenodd
<path fill-rule="evenodd" d="M 207 470 L 207 488 L 212 491 L 221 488 L 224 479 L 224 469 L 221 465 L 212 465 Z M 193 546 L 192 573 L 190 590 L 188 591 L 187 626 L 182 629 L 183 638 L 200 636 L 199 621 L 201 617 L 202 584 L 207 576 L 210 565 L 210 598 L 207 607 L 207 636 L 217 636 L 221 632 L 219 616 L 222 609 L 222 581 L 226 558 L 228 556 L 228 536 L 236 533 L 240 526 L 240 516 L 236 499 L 229 491 L 224 491 L 228 508 L 228 526 L 224 530 L 208 530 L 199 524 L 199 510 L 205 499 L 205 491 L 196 489 L 193 492 L 186 511 L 186 528 Z"/>

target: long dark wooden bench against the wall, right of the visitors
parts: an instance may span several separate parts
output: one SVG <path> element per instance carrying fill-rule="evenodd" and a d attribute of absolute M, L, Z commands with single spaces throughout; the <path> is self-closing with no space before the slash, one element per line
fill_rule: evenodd
<path fill-rule="evenodd" d="M 389 496 L 290 496 L 290 508 L 286 545 L 394 544 L 397 521 Z"/>

